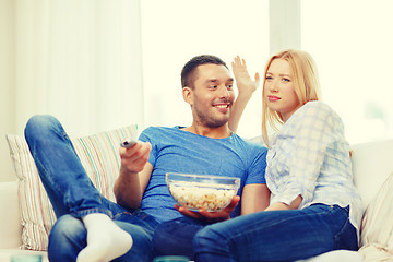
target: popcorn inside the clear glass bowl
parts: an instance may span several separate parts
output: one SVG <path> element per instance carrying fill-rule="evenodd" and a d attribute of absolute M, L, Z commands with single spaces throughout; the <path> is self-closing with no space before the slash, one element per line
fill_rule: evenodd
<path fill-rule="evenodd" d="M 230 203 L 237 191 L 233 188 L 226 189 L 226 184 L 214 184 L 214 188 L 198 187 L 196 182 L 184 184 L 172 183 L 168 188 L 179 205 L 190 210 L 221 211 Z"/>

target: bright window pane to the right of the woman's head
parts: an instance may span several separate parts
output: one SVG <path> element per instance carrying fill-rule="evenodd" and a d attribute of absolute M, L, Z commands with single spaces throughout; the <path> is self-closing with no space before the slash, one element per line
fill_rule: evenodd
<path fill-rule="evenodd" d="M 350 143 L 393 135 L 393 1 L 302 0 L 301 48 Z"/>

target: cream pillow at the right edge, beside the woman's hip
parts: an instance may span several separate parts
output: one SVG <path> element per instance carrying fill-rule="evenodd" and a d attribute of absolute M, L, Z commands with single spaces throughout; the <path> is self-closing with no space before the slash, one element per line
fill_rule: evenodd
<path fill-rule="evenodd" d="M 393 261 L 393 174 L 367 206 L 360 228 L 360 250 L 366 261 Z"/>

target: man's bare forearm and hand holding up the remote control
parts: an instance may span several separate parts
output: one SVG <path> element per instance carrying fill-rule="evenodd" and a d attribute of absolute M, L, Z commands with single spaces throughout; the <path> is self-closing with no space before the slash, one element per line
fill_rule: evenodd
<path fill-rule="evenodd" d="M 128 209 L 138 209 L 147 187 L 153 166 L 147 162 L 152 145 L 138 142 L 130 148 L 120 147 L 120 174 L 114 187 L 118 204 Z"/>

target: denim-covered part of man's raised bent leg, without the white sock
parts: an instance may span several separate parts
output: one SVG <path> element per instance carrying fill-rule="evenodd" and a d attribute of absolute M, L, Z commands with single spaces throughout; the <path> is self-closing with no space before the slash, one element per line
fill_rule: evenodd
<path fill-rule="evenodd" d="M 34 116 L 25 138 L 39 177 L 58 217 L 73 214 L 111 213 L 102 205 L 102 195 L 87 177 L 60 122 L 51 116 Z"/>

